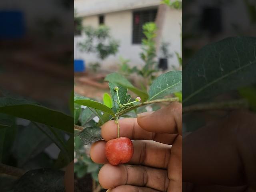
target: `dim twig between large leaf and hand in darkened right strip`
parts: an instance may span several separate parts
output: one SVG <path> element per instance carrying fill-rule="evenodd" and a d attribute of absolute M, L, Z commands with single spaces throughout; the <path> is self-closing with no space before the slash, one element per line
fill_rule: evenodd
<path fill-rule="evenodd" d="M 195 112 L 195 111 L 206 111 L 206 110 L 232 110 L 248 108 L 249 104 L 247 100 L 231 100 L 226 102 L 211 102 L 195 104 L 182 108 L 182 113 Z"/>

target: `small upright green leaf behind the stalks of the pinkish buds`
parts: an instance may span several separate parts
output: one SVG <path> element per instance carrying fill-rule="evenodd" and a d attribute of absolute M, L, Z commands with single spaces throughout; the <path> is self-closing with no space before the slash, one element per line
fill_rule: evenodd
<path fill-rule="evenodd" d="M 127 88 L 124 86 L 121 86 L 120 84 L 116 84 L 116 83 L 112 83 L 112 82 L 109 82 L 108 86 L 109 86 L 110 94 L 112 96 L 112 100 L 114 103 L 114 107 L 112 110 L 116 113 L 119 106 L 117 103 L 117 101 L 118 101 L 117 92 L 114 90 L 114 87 L 115 86 L 118 87 L 118 96 L 119 96 L 119 100 L 120 100 L 121 104 L 124 104 L 124 102 L 126 101 Z"/>

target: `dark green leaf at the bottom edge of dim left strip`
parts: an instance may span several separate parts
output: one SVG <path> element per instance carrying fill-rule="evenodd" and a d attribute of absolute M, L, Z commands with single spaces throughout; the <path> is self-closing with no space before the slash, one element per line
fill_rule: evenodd
<path fill-rule="evenodd" d="M 15 184 L 15 192 L 64 192 L 64 171 L 37 169 L 26 172 Z"/>

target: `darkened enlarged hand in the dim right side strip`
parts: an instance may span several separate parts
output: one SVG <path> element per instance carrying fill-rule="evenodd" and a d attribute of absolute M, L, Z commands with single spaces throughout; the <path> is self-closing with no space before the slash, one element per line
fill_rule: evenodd
<path fill-rule="evenodd" d="M 184 192 L 256 191 L 255 114 L 231 112 L 185 136 L 182 151 Z"/>

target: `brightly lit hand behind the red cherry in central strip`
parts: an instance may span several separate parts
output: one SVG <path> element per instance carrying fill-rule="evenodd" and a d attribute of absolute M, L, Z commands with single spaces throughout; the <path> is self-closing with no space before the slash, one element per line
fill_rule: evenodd
<path fill-rule="evenodd" d="M 114 139 L 116 124 L 102 126 L 102 137 L 92 144 L 90 156 L 105 164 L 98 175 L 103 188 L 111 192 L 182 191 L 182 105 L 172 103 L 156 112 L 119 120 L 120 137 L 133 139 L 130 162 L 112 166 L 105 156 L 106 141 Z"/>

